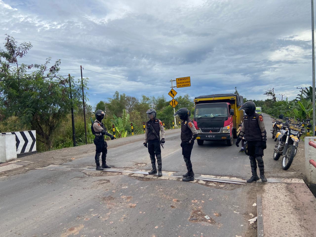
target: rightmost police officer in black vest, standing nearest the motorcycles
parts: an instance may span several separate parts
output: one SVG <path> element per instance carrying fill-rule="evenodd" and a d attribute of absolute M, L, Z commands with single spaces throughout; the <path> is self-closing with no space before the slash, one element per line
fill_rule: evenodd
<path fill-rule="evenodd" d="M 262 159 L 263 150 L 267 148 L 267 133 L 264 128 L 263 117 L 255 112 L 256 105 L 252 101 L 247 101 L 243 104 L 239 110 L 242 109 L 246 112 L 246 115 L 244 116 L 244 122 L 242 123 L 241 131 L 236 141 L 236 146 L 239 147 L 239 142 L 242 137 L 245 137 L 248 142 L 248 155 L 252 172 L 252 177 L 248 179 L 247 182 L 251 183 L 259 180 L 257 174 L 257 162 L 261 181 L 267 182 L 267 179 L 264 177 L 264 165 Z"/>

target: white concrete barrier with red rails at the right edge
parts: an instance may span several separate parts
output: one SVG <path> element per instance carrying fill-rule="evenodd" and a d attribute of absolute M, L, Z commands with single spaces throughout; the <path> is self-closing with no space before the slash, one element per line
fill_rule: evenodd
<path fill-rule="evenodd" d="M 316 137 L 305 137 L 305 174 L 309 184 L 316 184 L 316 168 L 309 163 L 309 160 L 316 161 L 316 148 L 308 143 L 316 143 Z"/>

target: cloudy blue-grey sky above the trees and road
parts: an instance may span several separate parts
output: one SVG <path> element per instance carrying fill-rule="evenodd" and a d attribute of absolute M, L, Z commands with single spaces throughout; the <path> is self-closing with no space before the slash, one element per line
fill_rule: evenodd
<path fill-rule="evenodd" d="M 248 99 L 265 99 L 267 88 L 292 99 L 312 83 L 310 2 L 0 0 L 0 47 L 7 33 L 32 42 L 23 63 L 61 59 L 61 74 L 76 77 L 66 69 L 82 65 L 93 106 L 116 90 L 169 98 L 170 80 L 185 76 L 191 87 L 178 95 L 237 86 Z"/>

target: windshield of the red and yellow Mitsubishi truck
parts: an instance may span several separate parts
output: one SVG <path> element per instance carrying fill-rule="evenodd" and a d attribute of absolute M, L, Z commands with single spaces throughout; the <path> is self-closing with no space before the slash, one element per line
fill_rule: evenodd
<path fill-rule="evenodd" d="M 228 117 L 227 104 L 197 104 L 195 106 L 194 118 L 201 117 Z"/>

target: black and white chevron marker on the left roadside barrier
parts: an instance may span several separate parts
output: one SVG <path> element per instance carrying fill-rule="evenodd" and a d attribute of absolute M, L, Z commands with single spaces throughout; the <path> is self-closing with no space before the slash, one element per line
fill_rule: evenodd
<path fill-rule="evenodd" d="M 14 134 L 16 141 L 16 154 L 36 152 L 36 131 L 3 132 L 2 134 Z"/>

